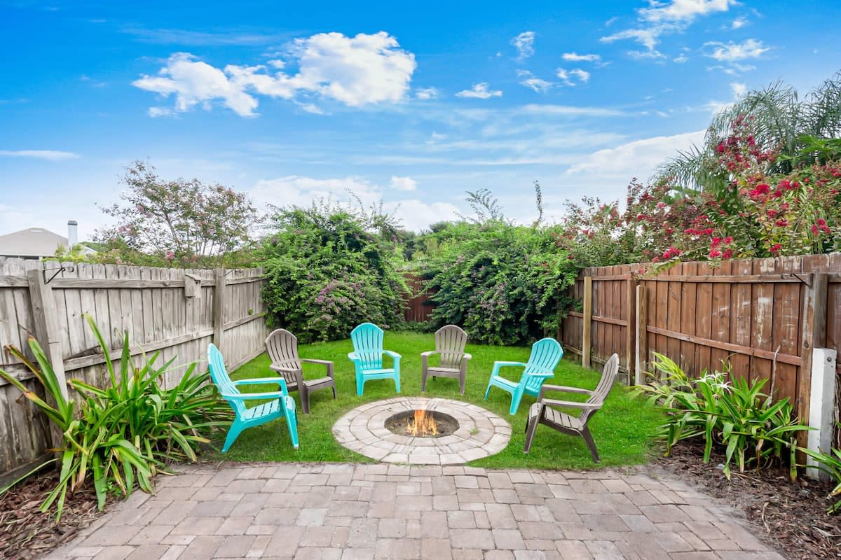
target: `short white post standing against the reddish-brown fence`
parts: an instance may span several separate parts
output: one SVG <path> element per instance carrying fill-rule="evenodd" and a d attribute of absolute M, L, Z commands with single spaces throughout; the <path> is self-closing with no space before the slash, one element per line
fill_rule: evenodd
<path fill-rule="evenodd" d="M 835 358 L 836 351 L 831 348 L 812 349 L 812 406 L 809 407 L 809 427 L 814 430 L 807 434 L 807 448 L 812 451 L 830 453 L 833 444 L 835 411 Z M 806 474 L 812 478 L 829 479 L 829 475 L 814 468 L 817 461 L 806 458 Z"/>

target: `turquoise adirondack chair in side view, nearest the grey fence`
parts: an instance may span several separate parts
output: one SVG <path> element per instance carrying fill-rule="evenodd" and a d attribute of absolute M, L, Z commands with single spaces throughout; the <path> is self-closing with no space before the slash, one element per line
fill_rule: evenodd
<path fill-rule="evenodd" d="M 236 414 L 233 423 L 230 425 L 230 430 L 228 430 L 228 436 L 225 437 L 225 447 L 222 447 L 222 453 L 228 451 L 231 444 L 246 428 L 260 426 L 277 418 L 286 418 L 286 427 L 289 429 L 292 447 L 298 448 L 298 419 L 295 415 L 295 400 L 289 396 L 285 379 L 272 377 L 231 381 L 228 370 L 225 369 L 225 359 L 222 358 L 222 353 L 214 344 L 210 344 L 208 347 L 208 362 L 210 364 L 210 378 L 219 387 L 222 398 L 228 401 Z M 236 388 L 237 385 L 269 383 L 277 383 L 280 385 L 280 390 L 270 393 L 241 393 Z M 262 405 L 251 406 L 251 408 L 246 407 L 246 400 L 267 399 L 272 400 L 268 400 Z"/>

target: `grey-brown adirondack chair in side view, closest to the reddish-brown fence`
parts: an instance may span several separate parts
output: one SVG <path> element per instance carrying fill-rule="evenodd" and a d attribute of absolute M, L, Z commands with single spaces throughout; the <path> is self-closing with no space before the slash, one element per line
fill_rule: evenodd
<path fill-rule="evenodd" d="M 593 456 L 595 463 L 599 462 L 599 452 L 595 448 L 593 436 L 590 434 L 590 428 L 587 427 L 587 422 L 595 415 L 601 406 L 605 403 L 607 394 L 611 392 L 613 382 L 616 380 L 616 374 L 619 373 L 619 355 L 613 354 L 607 360 L 605 368 L 601 371 L 601 379 L 599 385 L 596 385 L 595 390 L 579 389 L 578 387 L 563 387 L 561 385 L 543 385 L 540 390 L 540 395 L 537 396 L 537 402 L 532 405 L 528 411 L 528 423 L 526 424 L 526 447 L 523 450 L 528 453 L 532 448 L 532 439 L 534 439 L 534 432 L 537 430 L 537 424 L 543 424 L 558 430 L 558 432 L 567 433 L 571 436 L 584 437 L 587 442 L 587 447 L 590 447 L 590 455 Z M 562 391 L 566 393 L 579 393 L 582 395 L 590 395 L 586 402 L 572 402 L 569 400 L 553 400 L 546 399 L 544 395 L 549 391 Z M 551 406 L 563 406 L 564 408 L 578 408 L 581 410 L 579 416 L 571 416 L 564 412 L 556 411 Z"/>

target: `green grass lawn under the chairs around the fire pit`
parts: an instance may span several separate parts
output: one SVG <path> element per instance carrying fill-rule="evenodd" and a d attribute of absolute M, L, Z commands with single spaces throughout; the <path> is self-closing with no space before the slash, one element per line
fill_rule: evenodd
<path fill-rule="evenodd" d="M 421 352 L 435 348 L 431 334 L 416 332 L 386 332 L 385 348 L 400 353 L 400 395 L 421 394 Z M 552 429 L 539 426 L 532 451 L 523 453 L 526 416 L 534 398 L 525 395 L 515 416 L 508 414 L 510 394 L 493 388 L 488 400 L 483 400 L 485 387 L 495 360 L 525 362 L 530 348 L 495 347 L 468 344 L 467 351 L 473 354 L 468 365 L 467 384 L 464 395 L 458 394 L 458 379 L 429 379 L 426 395 L 454 400 L 465 400 L 484 406 L 509 421 L 513 429 L 511 440 L 502 452 L 470 463 L 487 468 L 598 468 L 616 467 L 645 463 L 653 434 L 663 418 L 642 400 L 632 399 L 629 392 L 616 385 L 605 407 L 590 420 L 596 445 L 599 447 L 600 465 L 595 465 L 584 440 L 571 437 Z M 313 461 L 371 463 L 371 459 L 347 450 L 336 442 L 331 428 L 340 416 L 352 408 L 372 400 L 389 399 L 394 393 L 394 381 L 378 379 L 365 384 L 365 394 L 357 396 L 353 364 L 347 359 L 352 352 L 351 341 L 303 344 L 299 347 L 302 358 L 332 360 L 336 368 L 336 389 L 338 398 L 333 400 L 330 390 L 319 390 L 310 394 L 310 414 L 301 411 L 297 391 L 294 395 L 298 404 L 298 432 L 300 448 L 296 451 L 289 442 L 285 421 L 273 421 L 262 427 L 251 428 L 241 434 L 228 453 L 214 451 L 214 459 L 233 461 Z M 390 359 L 385 359 L 389 364 Z M 237 369 L 233 379 L 273 377 L 268 369 L 269 359 L 264 353 Z M 387 366 L 388 367 L 388 366 Z M 503 368 L 502 374 L 509 379 L 519 379 L 521 369 Z M 304 364 L 304 376 L 320 377 L 324 367 Z M 600 374 L 584 369 L 571 360 L 564 359 L 555 369 L 555 377 L 547 381 L 554 385 L 574 385 L 587 389 L 595 388 Z M 247 390 L 277 390 L 277 385 L 251 385 Z M 573 400 L 576 395 L 558 398 Z M 214 438 L 214 447 L 220 449 L 224 434 Z"/>

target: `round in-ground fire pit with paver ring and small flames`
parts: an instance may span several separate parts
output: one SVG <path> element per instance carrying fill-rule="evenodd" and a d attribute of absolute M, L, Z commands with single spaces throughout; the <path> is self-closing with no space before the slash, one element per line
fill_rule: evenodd
<path fill-rule="evenodd" d="M 415 411 L 431 412 L 436 429 L 438 419 L 452 421 L 452 432 L 413 436 L 407 431 Z M 397 432 L 389 427 L 399 426 Z M 480 406 L 449 399 L 397 397 L 378 400 L 341 416 L 333 435 L 344 447 L 383 463 L 463 464 L 500 453 L 511 437 L 510 424 Z"/>

